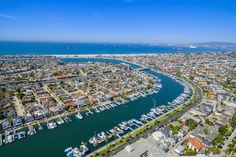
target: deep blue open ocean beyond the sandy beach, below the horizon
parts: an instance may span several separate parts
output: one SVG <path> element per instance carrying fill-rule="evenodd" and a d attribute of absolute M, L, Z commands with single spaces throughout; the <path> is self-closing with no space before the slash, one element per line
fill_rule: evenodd
<path fill-rule="evenodd" d="M 0 55 L 193 53 L 222 51 L 225 50 L 207 47 L 189 48 L 150 44 L 0 42 Z"/>

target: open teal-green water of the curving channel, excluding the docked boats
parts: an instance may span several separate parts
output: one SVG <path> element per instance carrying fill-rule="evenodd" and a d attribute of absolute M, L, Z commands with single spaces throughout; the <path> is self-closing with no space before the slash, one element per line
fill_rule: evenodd
<path fill-rule="evenodd" d="M 62 59 L 65 62 L 87 62 L 102 61 L 121 63 L 122 61 L 114 61 L 110 59 Z M 134 68 L 139 66 L 132 64 Z M 58 126 L 54 130 L 48 130 L 44 126 L 44 130 L 32 137 L 4 145 L 0 147 L 0 157 L 65 157 L 64 149 L 72 146 L 78 146 L 81 141 L 88 142 L 88 139 L 94 136 L 95 132 L 107 131 L 122 121 L 131 118 L 140 118 L 144 113 L 149 112 L 153 107 L 152 99 L 156 99 L 156 106 L 167 104 L 183 92 L 183 86 L 168 76 L 147 70 L 161 79 L 163 87 L 157 94 L 153 94 L 136 101 L 131 101 L 124 105 L 85 116 L 83 120 L 77 120 L 72 116 L 72 122 Z M 102 145 L 100 145 L 101 147 Z M 98 149 L 93 146 L 90 150 Z"/>

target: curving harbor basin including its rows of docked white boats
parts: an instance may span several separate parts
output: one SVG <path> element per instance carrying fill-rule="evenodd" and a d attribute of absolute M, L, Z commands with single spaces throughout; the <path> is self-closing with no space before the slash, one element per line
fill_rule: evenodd
<path fill-rule="evenodd" d="M 29 127 L 31 131 L 27 135 L 36 135 L 4 145 L 0 148 L 0 155 L 14 156 L 14 152 L 11 154 L 8 149 L 19 150 L 22 147 L 28 147 L 32 143 L 38 143 L 40 146 L 28 150 L 24 157 L 32 156 L 33 151 L 36 151 L 38 147 L 42 151 L 39 154 L 34 154 L 34 156 L 48 156 L 47 152 L 50 152 L 49 154 L 62 157 L 65 156 L 64 150 L 66 148 L 71 148 L 66 151 L 69 154 L 73 152 L 82 155 L 83 152 L 94 151 L 102 147 L 107 139 L 114 140 L 114 138 L 119 138 L 123 134 L 142 126 L 144 123 L 176 107 L 187 98 L 187 94 L 182 94 L 187 92 L 187 90 L 184 90 L 184 86 L 177 82 L 178 80 L 150 70 L 145 72 L 160 78 L 161 85 L 157 87 L 158 90 L 139 93 L 129 97 L 128 100 L 110 102 L 106 105 L 102 104 L 83 113 L 77 113 L 67 118 L 59 118 L 55 121 L 48 121 L 46 124 L 36 128 L 36 131 Z M 180 95 L 181 97 L 179 97 Z M 155 100 L 155 108 L 154 102 L 150 102 L 150 100 Z M 66 124 L 66 121 L 71 122 Z M 51 131 L 51 129 L 54 130 Z M 13 135 L 12 133 L 8 134 Z M 23 135 L 24 133 L 21 134 Z M 45 139 L 47 142 L 42 143 L 40 138 Z M 14 141 L 11 136 L 9 136 L 9 140 L 11 142 Z M 83 145 L 80 145 L 82 142 L 88 144 L 86 146 L 88 150 Z"/>

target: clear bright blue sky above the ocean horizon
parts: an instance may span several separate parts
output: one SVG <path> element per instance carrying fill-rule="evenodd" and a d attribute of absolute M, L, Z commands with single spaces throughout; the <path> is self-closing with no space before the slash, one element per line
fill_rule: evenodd
<path fill-rule="evenodd" d="M 0 40 L 236 42 L 236 0 L 0 0 Z"/>

